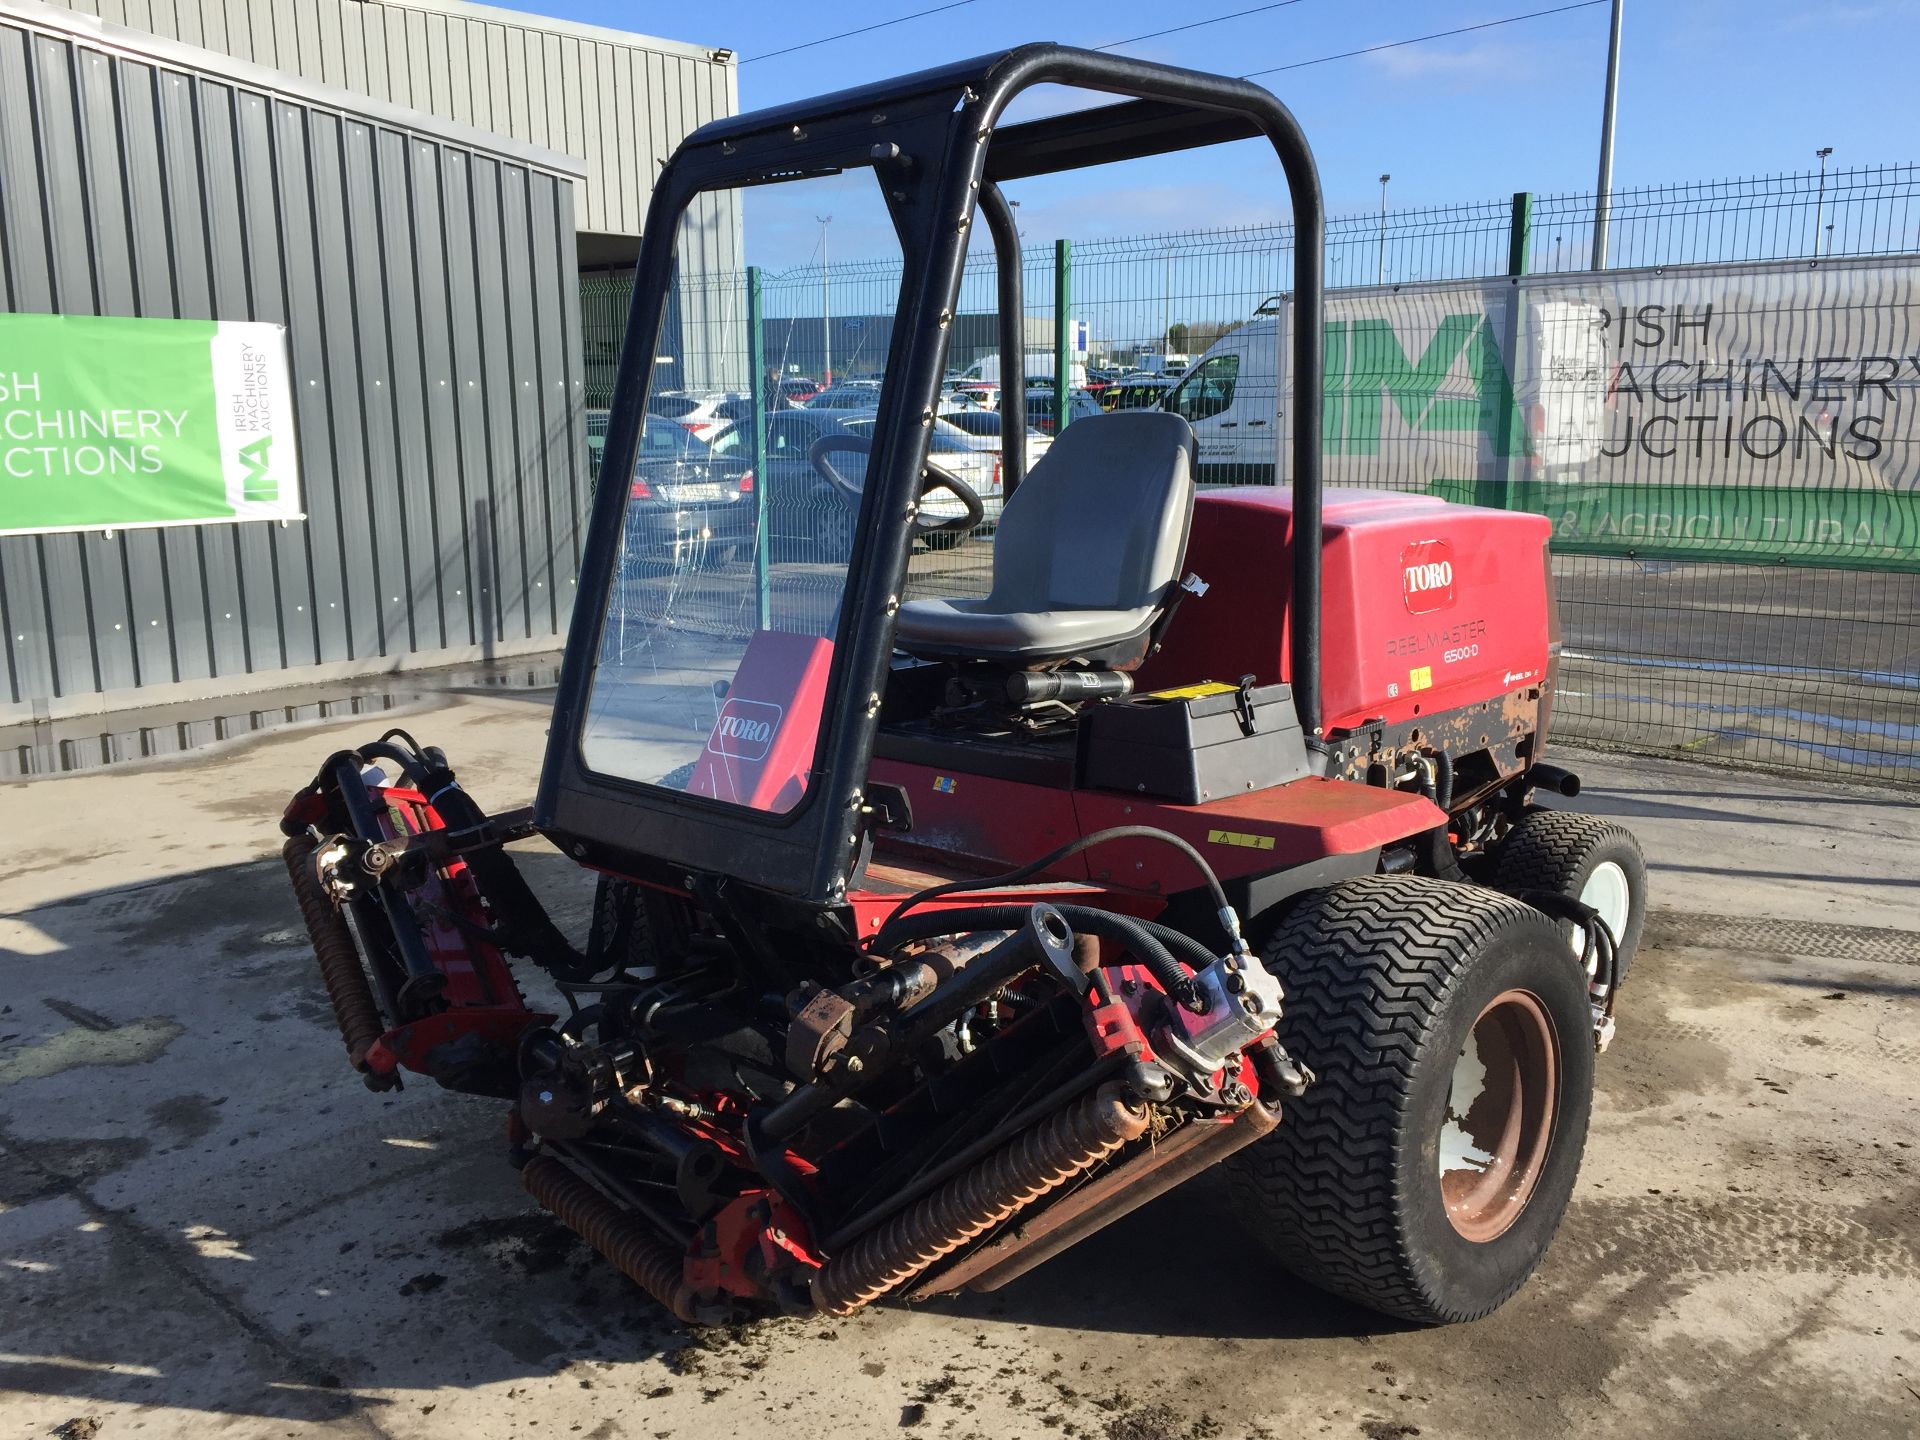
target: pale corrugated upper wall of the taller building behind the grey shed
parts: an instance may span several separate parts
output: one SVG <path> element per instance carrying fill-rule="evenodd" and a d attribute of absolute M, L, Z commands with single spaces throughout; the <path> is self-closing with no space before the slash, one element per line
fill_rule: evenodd
<path fill-rule="evenodd" d="M 578 156 L 582 230 L 639 234 L 674 146 L 739 104 L 701 46 L 459 0 L 56 4 Z"/>

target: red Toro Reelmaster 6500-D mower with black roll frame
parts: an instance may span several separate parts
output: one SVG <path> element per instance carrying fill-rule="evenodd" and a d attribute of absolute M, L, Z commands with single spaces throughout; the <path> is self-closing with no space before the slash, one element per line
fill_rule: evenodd
<path fill-rule="evenodd" d="M 1037 84 L 1119 100 L 1002 125 Z M 1283 474 L 1196 495 L 1188 420 L 1137 411 L 970 484 L 935 413 L 975 219 L 1018 374 L 1002 186 L 1233 142 L 1292 192 Z M 662 480 L 649 396 L 783 372 L 818 280 L 768 303 L 743 263 L 804 259 L 820 213 L 897 248 L 835 282 L 872 405 L 755 415 Z M 1323 495 L 1321 271 L 1308 144 L 1242 81 L 1027 46 L 693 134 L 534 806 L 390 732 L 286 810 L 367 1083 L 499 1096 L 526 1188 L 697 1323 L 991 1290 L 1215 1162 L 1302 1277 L 1500 1306 L 1572 1190 L 1645 870 L 1530 803 L 1574 789 L 1546 520 Z M 601 876 L 584 945 L 503 849 L 530 835 Z"/>

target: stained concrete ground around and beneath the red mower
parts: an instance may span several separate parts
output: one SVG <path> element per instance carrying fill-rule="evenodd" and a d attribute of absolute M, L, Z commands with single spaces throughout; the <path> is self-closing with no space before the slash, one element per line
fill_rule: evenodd
<path fill-rule="evenodd" d="M 540 701 L 407 726 L 528 797 Z M 273 820 L 378 728 L 0 787 L 0 1434 L 1920 1432 L 1910 791 L 1557 756 L 1655 918 L 1567 1223 L 1488 1321 L 1315 1294 L 1202 1177 L 996 1296 L 689 1334 L 530 1206 L 495 1102 L 348 1071 Z"/>

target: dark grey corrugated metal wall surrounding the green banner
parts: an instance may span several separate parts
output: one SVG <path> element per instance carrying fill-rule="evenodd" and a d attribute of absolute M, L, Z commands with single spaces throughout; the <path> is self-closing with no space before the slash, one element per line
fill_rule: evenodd
<path fill-rule="evenodd" d="M 551 645 L 588 499 L 572 161 L 140 40 L 0 0 L 0 298 L 286 324 L 309 518 L 0 540 L 0 718 Z"/>

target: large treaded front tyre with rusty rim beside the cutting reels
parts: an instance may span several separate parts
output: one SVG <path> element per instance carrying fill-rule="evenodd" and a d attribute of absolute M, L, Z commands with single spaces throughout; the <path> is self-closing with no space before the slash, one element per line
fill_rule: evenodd
<path fill-rule="evenodd" d="M 1281 1041 L 1315 1081 L 1229 1160 L 1242 1223 L 1386 1315 L 1492 1313 L 1559 1229 L 1592 1110 L 1586 981 L 1553 922 L 1475 885 L 1365 876 L 1298 902 L 1265 960 Z"/>

